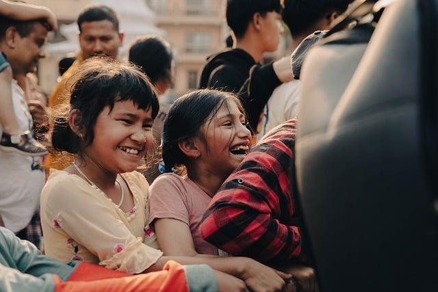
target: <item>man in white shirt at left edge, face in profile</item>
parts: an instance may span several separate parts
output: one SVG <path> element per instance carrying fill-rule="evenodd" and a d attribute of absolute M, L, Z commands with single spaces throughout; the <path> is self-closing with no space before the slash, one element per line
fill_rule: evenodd
<path fill-rule="evenodd" d="M 24 93 L 26 74 L 33 72 L 44 57 L 42 47 L 49 28 L 44 21 L 0 19 L 0 50 L 12 68 L 12 102 L 23 131 L 31 132 L 33 128 Z M 5 227 L 20 235 L 39 208 L 45 178 L 42 158 L 0 152 L 0 215 Z"/>

